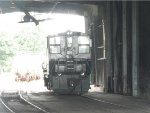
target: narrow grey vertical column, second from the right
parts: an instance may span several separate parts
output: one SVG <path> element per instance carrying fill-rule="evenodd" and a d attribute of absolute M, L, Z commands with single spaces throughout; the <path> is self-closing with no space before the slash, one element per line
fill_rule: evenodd
<path fill-rule="evenodd" d="M 127 53 L 127 3 L 123 2 L 123 10 L 122 10 L 122 21 L 123 21 L 123 31 L 122 31 L 122 37 L 123 37 L 123 63 L 122 63 L 122 75 L 123 75 L 123 93 L 127 94 L 127 63 L 128 63 L 128 53 Z"/>

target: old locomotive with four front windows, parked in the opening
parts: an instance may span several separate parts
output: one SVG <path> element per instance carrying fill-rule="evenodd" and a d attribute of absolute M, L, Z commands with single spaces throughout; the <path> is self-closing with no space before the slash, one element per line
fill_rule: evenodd
<path fill-rule="evenodd" d="M 43 65 L 47 89 L 59 94 L 88 92 L 91 74 L 90 37 L 71 31 L 48 36 L 47 50 L 48 65 Z"/>

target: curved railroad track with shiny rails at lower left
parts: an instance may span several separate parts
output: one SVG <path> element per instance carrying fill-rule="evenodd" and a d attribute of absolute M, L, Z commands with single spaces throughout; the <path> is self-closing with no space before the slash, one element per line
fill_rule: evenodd
<path fill-rule="evenodd" d="M 11 113 L 50 113 L 26 100 L 21 91 L 2 91 L 0 101 Z"/>

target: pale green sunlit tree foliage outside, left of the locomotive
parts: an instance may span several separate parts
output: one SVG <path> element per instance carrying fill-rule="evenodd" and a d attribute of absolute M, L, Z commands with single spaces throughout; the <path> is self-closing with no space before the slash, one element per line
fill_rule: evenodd
<path fill-rule="evenodd" d="M 46 38 L 35 26 L 20 26 L 18 32 L 0 31 L 0 67 L 11 69 L 11 61 L 18 53 L 43 53 Z"/>

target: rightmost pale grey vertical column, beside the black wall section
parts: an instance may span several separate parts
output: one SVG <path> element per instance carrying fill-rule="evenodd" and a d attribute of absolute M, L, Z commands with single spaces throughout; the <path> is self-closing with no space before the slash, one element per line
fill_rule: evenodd
<path fill-rule="evenodd" d="M 139 96 L 139 15 L 138 2 L 132 2 L 132 95 Z"/>

